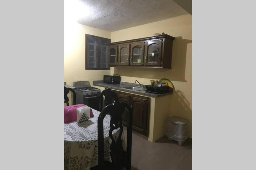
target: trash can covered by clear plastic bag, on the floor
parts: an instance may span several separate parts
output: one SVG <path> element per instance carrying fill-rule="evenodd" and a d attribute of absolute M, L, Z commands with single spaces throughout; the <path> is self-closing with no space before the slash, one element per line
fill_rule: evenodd
<path fill-rule="evenodd" d="M 179 116 L 168 117 L 163 129 L 166 136 L 175 141 L 185 141 L 191 135 L 190 122 Z"/>

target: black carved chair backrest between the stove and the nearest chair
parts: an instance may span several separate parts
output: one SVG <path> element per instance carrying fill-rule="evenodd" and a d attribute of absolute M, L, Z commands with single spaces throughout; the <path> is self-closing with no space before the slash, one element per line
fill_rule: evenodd
<path fill-rule="evenodd" d="M 104 102 L 103 96 L 105 96 Z M 114 101 L 118 101 L 117 94 L 111 88 L 103 90 L 100 94 L 100 111 L 102 111 L 103 106 L 105 107 L 113 103 L 112 99 L 114 99 Z"/>

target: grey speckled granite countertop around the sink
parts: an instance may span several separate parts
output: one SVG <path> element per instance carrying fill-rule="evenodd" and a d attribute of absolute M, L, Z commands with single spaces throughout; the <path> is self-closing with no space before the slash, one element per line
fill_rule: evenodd
<path fill-rule="evenodd" d="M 172 94 L 172 93 L 155 94 L 155 93 L 146 92 L 144 90 L 135 91 L 135 90 L 130 90 L 130 89 L 123 88 L 125 86 L 134 86 L 134 87 L 136 87 L 136 86 L 139 85 L 139 84 L 136 84 L 136 83 L 128 83 L 128 82 L 121 82 L 120 84 L 107 84 L 107 83 L 104 83 L 103 80 L 95 80 L 95 81 L 93 81 L 93 85 L 94 86 L 111 88 L 111 89 L 120 90 L 120 91 L 125 91 L 125 92 L 129 92 L 129 93 L 143 95 L 143 96 L 149 96 L 149 97 L 160 97 L 160 96 L 165 96 L 165 95 Z M 143 84 L 141 86 L 143 86 Z"/>

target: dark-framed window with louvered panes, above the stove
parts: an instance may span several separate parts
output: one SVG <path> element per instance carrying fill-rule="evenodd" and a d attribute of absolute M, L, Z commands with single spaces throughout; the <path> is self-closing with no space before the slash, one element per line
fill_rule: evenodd
<path fill-rule="evenodd" d="M 111 39 L 86 35 L 86 70 L 109 70 L 109 44 Z"/>

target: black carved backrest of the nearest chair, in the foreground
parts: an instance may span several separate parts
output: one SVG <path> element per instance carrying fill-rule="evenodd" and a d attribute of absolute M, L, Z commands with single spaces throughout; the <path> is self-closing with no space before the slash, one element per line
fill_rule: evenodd
<path fill-rule="evenodd" d="M 122 117 L 124 111 L 126 113 L 127 120 L 127 140 L 126 140 L 126 152 L 122 146 Z M 109 137 L 112 142 L 110 145 L 110 156 L 112 161 L 112 167 L 114 170 L 122 169 L 126 167 L 127 170 L 131 170 L 131 158 L 132 158 L 132 109 L 127 103 L 115 101 L 112 104 L 104 107 L 98 117 L 98 169 L 104 169 L 104 133 L 103 133 L 103 119 L 109 114 L 110 130 Z M 114 129 L 120 128 L 119 136 L 115 141 L 112 132 Z"/>

